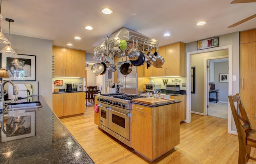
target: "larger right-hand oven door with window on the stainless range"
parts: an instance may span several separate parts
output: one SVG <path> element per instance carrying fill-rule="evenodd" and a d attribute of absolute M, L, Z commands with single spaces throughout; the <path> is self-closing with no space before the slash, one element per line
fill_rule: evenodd
<path fill-rule="evenodd" d="M 130 113 L 108 108 L 108 128 L 130 141 Z"/>

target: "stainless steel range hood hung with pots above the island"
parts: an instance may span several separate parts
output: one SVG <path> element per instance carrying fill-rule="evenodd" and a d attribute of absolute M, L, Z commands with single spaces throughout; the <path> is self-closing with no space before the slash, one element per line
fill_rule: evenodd
<path fill-rule="evenodd" d="M 156 39 L 152 39 L 142 33 L 139 33 L 137 31 L 134 31 L 132 29 L 128 29 L 126 27 L 122 27 L 118 31 L 112 33 L 108 37 L 108 43 L 106 41 L 103 41 L 102 44 L 100 44 L 98 47 L 94 49 L 94 52 L 97 52 L 98 54 L 101 54 L 102 52 L 106 51 L 106 44 L 109 44 L 110 47 L 118 47 L 119 41 L 126 40 L 127 47 L 123 51 L 119 51 L 116 53 L 114 57 L 123 57 L 119 56 L 120 53 L 125 53 L 127 55 L 128 51 L 134 46 L 136 47 L 136 41 L 138 42 L 138 50 L 143 49 L 143 45 L 145 49 L 154 49 L 158 46 L 158 41 Z M 134 39 L 134 45 L 133 45 L 133 39 Z M 106 39 L 105 39 L 106 40 Z M 149 46 L 148 46 L 149 45 Z"/>

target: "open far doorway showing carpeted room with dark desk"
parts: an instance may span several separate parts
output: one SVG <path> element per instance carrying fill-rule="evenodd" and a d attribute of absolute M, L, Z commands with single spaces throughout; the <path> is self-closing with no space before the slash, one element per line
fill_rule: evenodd
<path fill-rule="evenodd" d="M 228 119 L 228 56 L 206 60 L 208 89 L 206 115 Z"/>

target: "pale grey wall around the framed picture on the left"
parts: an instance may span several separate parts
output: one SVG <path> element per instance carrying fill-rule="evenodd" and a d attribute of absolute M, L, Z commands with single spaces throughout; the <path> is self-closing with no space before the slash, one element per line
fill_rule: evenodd
<path fill-rule="evenodd" d="M 6 33 L 4 35 L 8 36 Z M 32 84 L 33 95 L 42 95 L 49 107 L 52 107 L 52 41 L 12 34 L 10 41 L 16 53 L 36 56 L 36 81 L 14 81 L 14 83 Z M 0 45 L 0 49 L 4 47 L 5 45 Z"/>

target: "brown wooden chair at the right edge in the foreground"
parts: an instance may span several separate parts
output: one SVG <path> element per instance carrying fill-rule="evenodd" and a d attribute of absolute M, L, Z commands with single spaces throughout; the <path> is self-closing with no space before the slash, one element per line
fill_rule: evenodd
<path fill-rule="evenodd" d="M 238 164 L 246 164 L 249 159 L 256 160 L 256 158 L 250 156 L 251 147 L 256 148 L 256 130 L 252 129 L 252 125 L 244 109 L 240 94 L 228 96 L 228 100 L 238 133 Z M 236 106 L 234 102 L 236 102 Z"/>

